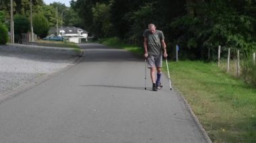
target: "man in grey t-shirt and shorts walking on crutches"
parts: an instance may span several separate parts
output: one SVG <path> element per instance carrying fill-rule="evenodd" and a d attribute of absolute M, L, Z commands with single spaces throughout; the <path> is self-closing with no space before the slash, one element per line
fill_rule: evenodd
<path fill-rule="evenodd" d="M 152 90 L 157 91 L 157 89 L 162 89 L 162 51 L 164 51 L 164 58 L 168 56 L 164 34 L 162 31 L 156 30 L 156 26 L 153 23 L 150 23 L 148 29 L 143 33 L 143 38 L 144 56 L 147 58 L 150 77 L 153 83 Z"/>

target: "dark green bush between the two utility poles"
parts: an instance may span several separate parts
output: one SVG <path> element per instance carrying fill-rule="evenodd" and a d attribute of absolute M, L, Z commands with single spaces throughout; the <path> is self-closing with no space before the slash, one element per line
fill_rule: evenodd
<path fill-rule="evenodd" d="M 22 34 L 30 30 L 30 21 L 24 15 L 14 15 L 13 17 L 15 42 L 22 43 Z"/>

